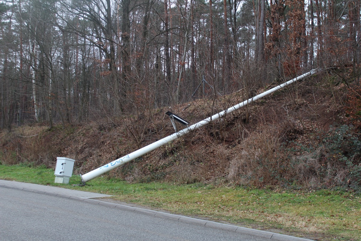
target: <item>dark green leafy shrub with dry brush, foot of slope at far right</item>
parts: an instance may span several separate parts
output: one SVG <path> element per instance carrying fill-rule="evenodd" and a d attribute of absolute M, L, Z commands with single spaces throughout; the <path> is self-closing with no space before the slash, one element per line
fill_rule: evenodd
<path fill-rule="evenodd" d="M 319 131 L 316 149 L 293 158 L 295 181 L 309 187 L 344 186 L 361 191 L 361 141 L 349 125 L 331 126 Z"/>

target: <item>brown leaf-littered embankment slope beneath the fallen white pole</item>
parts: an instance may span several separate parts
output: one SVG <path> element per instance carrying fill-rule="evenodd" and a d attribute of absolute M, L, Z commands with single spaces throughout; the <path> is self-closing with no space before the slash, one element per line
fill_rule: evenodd
<path fill-rule="evenodd" d="M 259 89 L 257 94 L 263 91 Z M 3 131 L 4 163 L 34 162 L 54 167 L 56 156 L 66 156 L 76 160 L 75 173 L 86 173 L 174 133 L 165 115 L 168 110 L 193 124 L 242 102 L 245 96 L 238 91 L 216 99 L 199 99 L 126 118 L 107 117 L 64 129 L 56 126 L 47 130 L 42 125 L 29 125 L 12 132 Z M 330 150 L 324 142 L 332 139 L 330 135 L 335 128 L 347 124 L 346 96 L 347 86 L 343 83 L 335 85 L 320 75 L 308 78 L 106 175 L 129 182 L 348 185 L 352 166 L 340 159 L 349 156 L 344 153 L 328 156 Z M 355 131 L 345 127 L 338 131 L 354 136 L 353 144 L 357 144 Z M 360 163 L 359 158 L 353 156 L 355 166 Z"/>

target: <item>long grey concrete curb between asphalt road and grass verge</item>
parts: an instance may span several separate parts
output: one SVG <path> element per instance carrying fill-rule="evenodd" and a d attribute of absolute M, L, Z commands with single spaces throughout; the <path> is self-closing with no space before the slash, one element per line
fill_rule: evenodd
<path fill-rule="evenodd" d="M 270 240 L 313 241 L 313 240 L 306 239 L 306 238 L 293 237 L 293 236 L 289 236 L 289 235 L 285 235 L 285 234 L 267 232 L 267 231 L 251 229 L 251 228 L 244 228 L 244 227 L 239 227 L 239 226 L 235 226 L 235 225 L 217 223 L 217 222 L 203 220 L 203 219 L 190 218 L 187 216 L 169 214 L 166 212 L 153 211 L 153 210 L 148 210 L 148 209 L 144 209 L 144 208 L 131 207 L 131 206 L 126 206 L 126 205 L 121 205 L 121 204 L 116 204 L 116 203 L 104 202 L 104 201 L 94 200 L 94 199 L 90 199 L 90 198 L 79 198 L 79 197 L 73 197 L 73 196 L 68 196 L 68 195 L 64 195 L 64 194 L 49 193 L 49 192 L 45 192 L 45 191 L 32 190 L 32 189 L 27 189 L 27 188 L 19 188 L 16 186 L 8 186 L 8 185 L 3 185 L 3 184 L 0 184 L 0 187 L 17 189 L 17 190 L 22 190 L 22 191 L 29 191 L 32 193 L 40 193 L 40 194 L 45 194 L 45 195 L 50 195 L 50 196 L 55 196 L 55 197 L 60 197 L 60 198 L 71 199 L 71 200 L 75 200 L 75 201 L 92 203 L 95 205 L 100 205 L 100 206 L 105 206 L 105 207 L 110 207 L 110 208 L 118 208 L 121 210 L 126 210 L 126 211 L 131 211 L 131 212 L 139 212 L 141 214 L 155 216 L 155 217 L 159 217 L 159 218 L 172 219 L 172 220 L 186 222 L 186 223 L 203 225 L 203 226 L 210 227 L 210 228 L 216 228 L 216 229 L 221 229 L 221 230 L 226 230 L 226 231 L 231 231 L 231 232 L 243 233 L 243 234 L 248 234 L 248 235 L 262 237 L 262 238 L 269 238 Z"/>

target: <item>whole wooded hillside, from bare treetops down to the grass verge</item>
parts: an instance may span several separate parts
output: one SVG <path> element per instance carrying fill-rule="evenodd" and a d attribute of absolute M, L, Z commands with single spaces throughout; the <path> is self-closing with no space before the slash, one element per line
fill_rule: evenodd
<path fill-rule="evenodd" d="M 165 109 L 195 122 L 320 68 L 110 175 L 360 190 L 360 7 L 1 1 L 2 162 L 62 155 L 84 173 L 172 133 Z"/>

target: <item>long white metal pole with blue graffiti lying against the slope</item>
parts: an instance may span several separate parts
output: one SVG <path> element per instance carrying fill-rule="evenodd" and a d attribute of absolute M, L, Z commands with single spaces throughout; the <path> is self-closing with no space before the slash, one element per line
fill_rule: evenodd
<path fill-rule="evenodd" d="M 287 81 L 281 85 L 278 85 L 270 90 L 267 90 L 259 95 L 256 95 L 254 96 L 253 98 L 250 98 L 248 100 L 245 100 L 244 102 L 242 103 L 239 103 L 239 104 L 236 104 L 235 106 L 232 106 L 224 111 L 221 111 L 219 112 L 218 114 L 215 114 L 213 116 L 210 116 L 208 117 L 207 119 L 204 119 L 202 121 L 199 121 L 197 122 L 196 124 L 193 124 L 191 126 L 187 126 L 187 128 L 184 128 L 183 130 L 180 130 L 179 132 L 176 132 L 176 133 L 173 133 L 163 139 L 160 139 L 159 141 L 156 141 L 156 142 L 153 142 L 151 144 L 149 144 L 148 146 L 145 146 L 139 150 L 136 150 L 136 151 L 133 151 L 132 153 L 128 154 L 128 155 L 125 155 L 117 160 L 114 160 L 113 162 L 110 162 L 108 164 L 105 164 L 97 169 L 94 169 L 93 171 L 90 171 L 84 175 L 81 175 L 81 178 L 82 178 L 82 182 L 83 184 L 85 184 L 85 182 L 87 181 L 90 181 L 92 180 L 93 178 L 95 177 L 98 177 L 100 175 L 103 175 L 104 173 L 106 172 L 109 172 L 111 170 L 113 170 L 114 168 L 117 168 L 127 162 L 130 162 L 131 160 L 134 160 L 144 154 L 147 154 L 148 152 L 151 152 L 155 149 L 157 149 L 158 147 L 161 147 L 161 146 L 164 146 L 165 144 L 171 142 L 171 141 L 174 141 L 175 139 L 179 138 L 179 137 L 182 137 L 183 135 L 186 135 L 190 132 L 192 132 L 193 130 L 195 129 L 198 129 L 198 128 L 201 128 L 202 126 L 204 125 L 207 125 L 209 124 L 211 121 L 214 121 L 214 120 L 217 120 L 217 119 L 220 119 L 222 118 L 224 115 L 226 115 L 227 113 L 231 113 L 233 111 L 236 111 L 238 110 L 239 108 L 241 107 L 244 107 L 246 106 L 248 103 L 251 103 L 253 101 L 256 101 L 258 99 L 261 99 L 262 97 L 266 96 L 266 95 L 269 95 L 279 89 L 282 89 L 283 87 L 286 87 L 288 85 L 290 85 L 291 83 L 293 82 L 296 82 L 300 79 L 303 79 L 305 77 L 308 77 L 308 76 L 311 76 L 313 75 L 314 73 L 316 73 L 318 71 L 318 69 L 313 69 L 311 70 L 310 72 L 308 73 L 305 73 L 301 76 L 298 76 L 294 79 L 291 79 L 290 81 Z"/>

